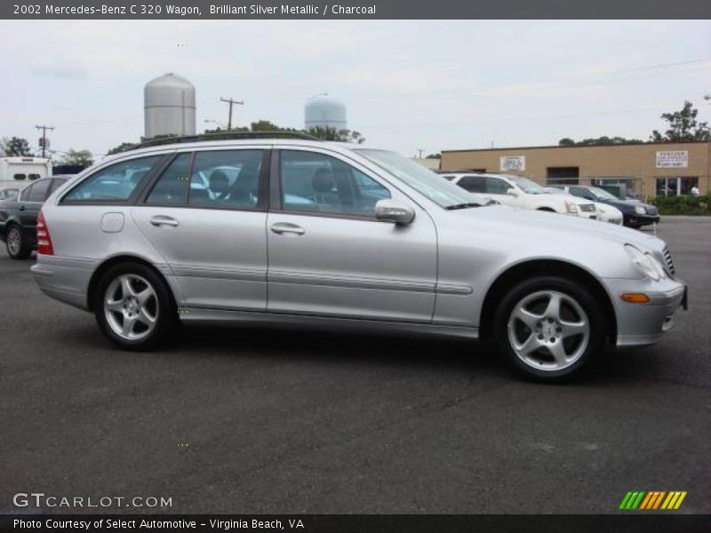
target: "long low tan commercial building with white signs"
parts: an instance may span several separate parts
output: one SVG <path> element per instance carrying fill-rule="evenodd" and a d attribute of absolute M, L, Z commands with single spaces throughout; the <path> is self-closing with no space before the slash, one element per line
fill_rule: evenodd
<path fill-rule="evenodd" d="M 644 197 L 708 194 L 711 143 L 443 150 L 443 170 L 516 174 L 541 185 L 613 185 Z"/>

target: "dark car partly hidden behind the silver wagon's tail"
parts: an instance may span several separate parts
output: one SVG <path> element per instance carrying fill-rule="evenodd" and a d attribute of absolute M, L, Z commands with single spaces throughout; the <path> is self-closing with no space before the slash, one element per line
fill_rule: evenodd
<path fill-rule="evenodd" d="M 37 215 L 42 204 L 68 176 L 37 179 L 20 195 L 0 200 L 0 240 L 12 259 L 28 259 L 36 249 Z"/>

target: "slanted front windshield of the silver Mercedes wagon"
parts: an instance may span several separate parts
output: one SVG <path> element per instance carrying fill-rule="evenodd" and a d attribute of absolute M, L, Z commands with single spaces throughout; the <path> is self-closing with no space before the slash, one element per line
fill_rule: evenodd
<path fill-rule="evenodd" d="M 363 148 L 356 149 L 356 152 L 390 172 L 396 178 L 402 179 L 419 194 L 427 196 L 444 209 L 454 205 L 471 205 L 472 203 L 486 205 L 486 201 L 480 195 L 467 193 L 463 188 L 443 179 L 435 172 L 428 171 L 421 164 L 395 154 L 395 152 Z"/>

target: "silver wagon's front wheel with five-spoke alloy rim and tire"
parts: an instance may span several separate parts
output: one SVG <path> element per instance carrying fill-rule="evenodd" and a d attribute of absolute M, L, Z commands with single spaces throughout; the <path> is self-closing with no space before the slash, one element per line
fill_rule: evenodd
<path fill-rule="evenodd" d="M 499 352 L 539 381 L 563 381 L 586 370 L 606 346 L 603 310 L 587 288 L 537 276 L 510 290 L 496 318 Z"/>

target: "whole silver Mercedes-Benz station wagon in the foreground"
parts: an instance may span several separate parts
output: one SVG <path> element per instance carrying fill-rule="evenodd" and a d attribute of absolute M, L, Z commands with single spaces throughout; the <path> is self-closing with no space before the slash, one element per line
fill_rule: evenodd
<path fill-rule="evenodd" d="M 188 140 L 105 159 L 38 220 L 39 287 L 126 349 L 180 323 L 430 332 L 560 380 L 658 341 L 686 306 L 654 236 L 486 205 L 385 150 Z"/>

